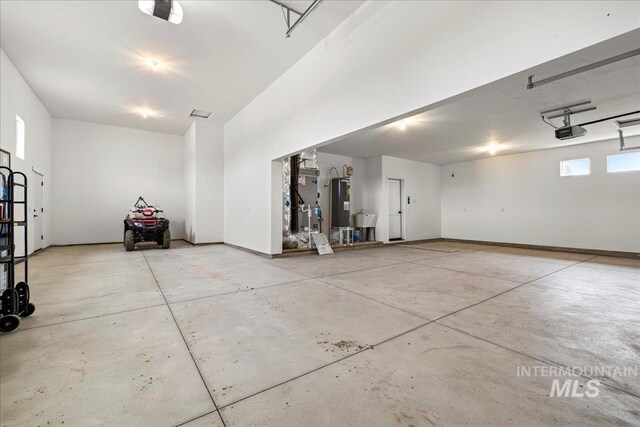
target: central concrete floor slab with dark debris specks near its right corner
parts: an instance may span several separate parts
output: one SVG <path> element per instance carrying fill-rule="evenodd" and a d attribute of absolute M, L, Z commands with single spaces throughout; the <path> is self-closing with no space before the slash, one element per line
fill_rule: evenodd
<path fill-rule="evenodd" d="M 219 405 L 425 323 L 317 280 L 171 306 Z"/>

